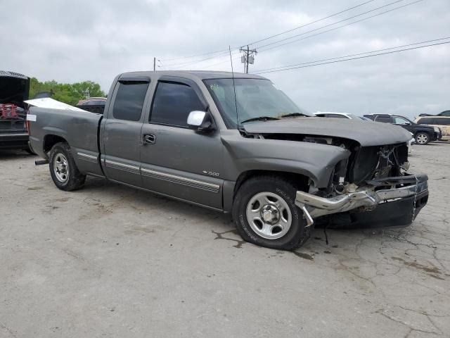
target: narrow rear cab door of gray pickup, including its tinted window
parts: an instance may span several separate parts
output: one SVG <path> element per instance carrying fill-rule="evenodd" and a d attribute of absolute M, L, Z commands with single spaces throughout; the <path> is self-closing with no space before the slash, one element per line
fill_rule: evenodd
<path fill-rule="evenodd" d="M 141 129 L 149 77 L 121 77 L 103 130 L 103 166 L 110 180 L 141 187 Z"/>

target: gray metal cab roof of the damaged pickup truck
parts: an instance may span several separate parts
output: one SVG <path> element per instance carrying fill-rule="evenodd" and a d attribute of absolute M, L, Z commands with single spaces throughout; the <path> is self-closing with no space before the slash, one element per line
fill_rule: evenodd
<path fill-rule="evenodd" d="M 212 70 L 158 70 L 156 72 L 152 71 L 143 71 L 143 72 L 128 72 L 123 73 L 121 76 L 127 76 L 127 75 L 144 75 L 144 76 L 151 76 L 151 75 L 167 75 L 167 76 L 179 76 L 179 77 L 196 77 L 200 80 L 205 79 L 226 79 L 226 78 L 232 78 L 233 73 L 231 72 L 218 72 L 218 71 L 212 71 Z M 244 74 L 244 73 L 234 73 L 234 77 L 236 79 L 265 79 L 265 77 L 259 76 L 259 75 L 252 75 L 252 74 Z"/>

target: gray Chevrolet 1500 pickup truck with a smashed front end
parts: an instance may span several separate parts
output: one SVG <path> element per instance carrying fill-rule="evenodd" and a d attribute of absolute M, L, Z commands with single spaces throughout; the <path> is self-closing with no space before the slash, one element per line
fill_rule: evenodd
<path fill-rule="evenodd" d="M 32 149 L 53 182 L 86 175 L 232 213 L 248 242 L 295 249 L 316 223 L 409 225 L 428 177 L 408 173 L 411 134 L 313 117 L 264 77 L 124 73 L 103 115 L 31 108 Z"/>

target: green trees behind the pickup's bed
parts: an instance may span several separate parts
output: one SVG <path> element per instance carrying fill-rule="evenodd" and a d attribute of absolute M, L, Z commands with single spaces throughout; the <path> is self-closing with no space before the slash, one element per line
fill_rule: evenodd
<path fill-rule="evenodd" d="M 92 81 L 76 83 L 59 83 L 55 80 L 39 82 L 36 77 L 30 79 L 30 98 L 39 92 L 51 92 L 52 99 L 75 105 L 79 100 L 88 97 L 103 97 L 105 92 L 101 90 L 100 84 Z"/>

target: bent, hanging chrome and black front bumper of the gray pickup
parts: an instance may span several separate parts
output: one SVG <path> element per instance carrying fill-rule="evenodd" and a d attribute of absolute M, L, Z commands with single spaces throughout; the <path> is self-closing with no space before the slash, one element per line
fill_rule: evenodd
<path fill-rule="evenodd" d="M 428 176 L 405 175 L 366 181 L 364 187 L 329 199 L 297 192 L 295 204 L 307 225 L 323 215 L 351 213 L 352 223 L 408 225 L 428 201 Z"/>

